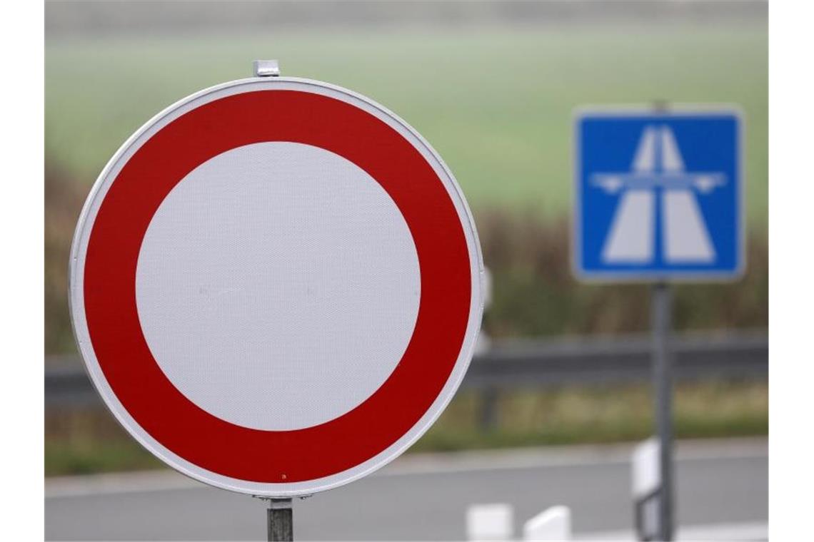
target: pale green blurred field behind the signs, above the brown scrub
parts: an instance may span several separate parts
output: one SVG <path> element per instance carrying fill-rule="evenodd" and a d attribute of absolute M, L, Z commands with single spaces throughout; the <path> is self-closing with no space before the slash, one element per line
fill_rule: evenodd
<path fill-rule="evenodd" d="M 277 58 L 289 76 L 396 111 L 449 163 L 475 210 L 570 206 L 581 104 L 731 102 L 746 111 L 751 227 L 767 219 L 764 27 L 468 28 L 128 37 L 46 43 L 46 154 L 86 190 L 131 132 L 177 99 Z"/>

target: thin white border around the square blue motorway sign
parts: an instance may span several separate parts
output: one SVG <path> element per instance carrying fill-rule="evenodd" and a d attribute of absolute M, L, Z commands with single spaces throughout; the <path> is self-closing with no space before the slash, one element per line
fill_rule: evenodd
<path fill-rule="evenodd" d="M 733 115 L 737 119 L 737 154 L 740 173 L 740 198 L 738 201 L 738 249 L 740 258 L 734 271 L 585 271 L 580 267 L 582 254 L 582 190 L 580 168 L 580 148 L 578 134 L 580 121 L 586 116 L 593 117 L 637 117 L 642 115 L 663 115 L 667 117 Z M 571 176 L 572 217 L 571 217 L 571 272 L 580 282 L 602 283 L 662 283 L 662 282 L 734 282 L 741 280 L 746 272 L 746 158 L 743 152 L 743 139 L 746 133 L 746 115 L 740 106 L 730 103 L 682 104 L 670 103 L 669 108 L 660 109 L 646 105 L 586 105 L 576 107 L 571 118 Z"/>

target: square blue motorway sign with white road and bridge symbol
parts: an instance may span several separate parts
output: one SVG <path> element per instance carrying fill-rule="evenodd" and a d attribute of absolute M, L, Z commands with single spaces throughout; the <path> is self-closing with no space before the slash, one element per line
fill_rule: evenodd
<path fill-rule="evenodd" d="M 721 280 L 742 273 L 737 111 L 580 111 L 575 132 L 576 275 Z"/>

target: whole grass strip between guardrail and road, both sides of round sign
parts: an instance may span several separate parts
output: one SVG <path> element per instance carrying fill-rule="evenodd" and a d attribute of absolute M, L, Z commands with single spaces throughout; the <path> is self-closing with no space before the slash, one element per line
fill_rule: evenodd
<path fill-rule="evenodd" d="M 768 384 L 709 381 L 676 386 L 677 438 L 765 436 Z M 479 396 L 460 392 L 413 452 L 642 440 L 653 431 L 647 384 L 514 391 L 498 399 L 497 426 L 478 427 Z M 46 416 L 46 475 L 155 469 L 151 456 L 103 410 Z"/>

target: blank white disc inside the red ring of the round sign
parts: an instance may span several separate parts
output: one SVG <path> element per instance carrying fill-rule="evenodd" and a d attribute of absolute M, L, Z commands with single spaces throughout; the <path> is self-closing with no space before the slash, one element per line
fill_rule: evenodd
<path fill-rule="evenodd" d="M 420 289 L 413 237 L 381 185 L 288 142 L 191 171 L 155 212 L 136 270 L 164 374 L 210 414 L 262 430 L 325 423 L 370 397 L 405 353 Z"/>

